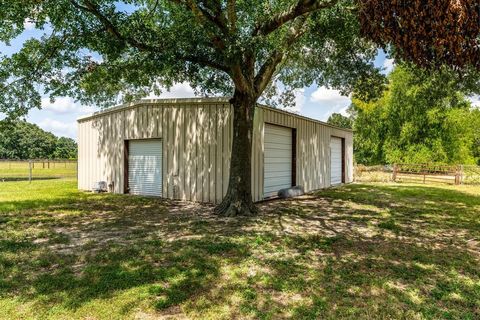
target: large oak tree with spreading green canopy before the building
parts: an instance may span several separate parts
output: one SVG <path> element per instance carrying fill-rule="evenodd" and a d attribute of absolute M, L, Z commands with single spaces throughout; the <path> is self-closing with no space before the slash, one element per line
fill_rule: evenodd
<path fill-rule="evenodd" d="M 415 38 L 402 42 L 391 36 L 401 31 L 382 29 L 398 22 L 382 7 L 390 2 L 401 1 L 129 0 L 126 10 L 113 0 L 0 0 L 0 40 L 20 34 L 25 21 L 45 29 L 41 39 L 1 58 L 0 111 L 21 116 L 40 107 L 42 92 L 107 106 L 182 81 L 203 94 L 230 95 L 230 181 L 217 212 L 251 214 L 256 211 L 250 170 L 257 101 L 272 97 L 278 84 L 287 93 L 316 84 L 343 92 L 355 88 L 369 97 L 383 82 L 373 65 L 377 46 L 390 50 L 393 44 L 407 58 L 418 49 Z M 438 26 L 441 21 L 433 27 Z M 472 43 L 462 42 L 468 48 Z M 462 61 L 453 64 L 472 64 Z"/>

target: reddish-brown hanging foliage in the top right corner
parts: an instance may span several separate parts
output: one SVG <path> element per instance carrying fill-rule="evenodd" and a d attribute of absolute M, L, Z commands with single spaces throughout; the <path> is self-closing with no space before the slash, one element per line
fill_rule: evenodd
<path fill-rule="evenodd" d="M 480 67 L 478 0 L 360 0 L 362 33 L 423 67 Z"/>

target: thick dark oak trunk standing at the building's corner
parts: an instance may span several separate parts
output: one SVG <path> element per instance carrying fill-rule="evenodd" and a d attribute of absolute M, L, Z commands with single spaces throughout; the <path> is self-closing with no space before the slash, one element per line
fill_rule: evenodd
<path fill-rule="evenodd" d="M 233 143 L 230 180 L 227 194 L 215 211 L 219 215 L 253 215 L 257 208 L 252 201 L 251 159 L 253 115 L 256 98 L 253 94 L 235 91 L 233 104 Z"/>

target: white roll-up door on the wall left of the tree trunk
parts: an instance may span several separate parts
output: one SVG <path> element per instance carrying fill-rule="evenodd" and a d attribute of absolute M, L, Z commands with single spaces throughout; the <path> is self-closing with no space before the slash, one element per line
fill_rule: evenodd
<path fill-rule="evenodd" d="M 162 196 L 162 141 L 128 144 L 128 187 L 131 194 Z"/>

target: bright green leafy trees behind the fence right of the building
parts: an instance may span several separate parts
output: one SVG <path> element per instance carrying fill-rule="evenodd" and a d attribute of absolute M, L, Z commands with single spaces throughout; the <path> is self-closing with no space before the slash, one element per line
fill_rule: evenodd
<path fill-rule="evenodd" d="M 480 110 L 449 72 L 397 66 L 378 99 L 354 94 L 328 122 L 354 130 L 357 163 L 480 164 Z"/>

